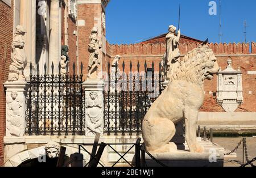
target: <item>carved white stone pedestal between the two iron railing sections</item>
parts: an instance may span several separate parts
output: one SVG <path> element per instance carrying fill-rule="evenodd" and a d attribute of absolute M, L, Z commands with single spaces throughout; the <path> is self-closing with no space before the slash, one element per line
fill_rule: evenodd
<path fill-rule="evenodd" d="M 85 90 L 85 135 L 104 134 L 104 82 L 90 79 L 83 83 Z"/>

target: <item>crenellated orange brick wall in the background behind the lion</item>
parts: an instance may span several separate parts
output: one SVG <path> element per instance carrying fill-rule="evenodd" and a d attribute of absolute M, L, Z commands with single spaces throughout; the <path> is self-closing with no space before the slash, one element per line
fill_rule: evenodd
<path fill-rule="evenodd" d="M 179 49 L 181 54 L 187 53 L 189 50 L 196 48 L 198 44 L 181 44 Z M 137 63 L 140 63 L 140 71 L 144 71 L 144 62 L 147 67 L 151 67 L 154 61 L 155 71 L 159 71 L 159 61 L 166 51 L 165 44 L 132 44 L 132 45 L 107 45 L 107 52 L 112 56 L 109 59 L 112 62 L 115 55 L 121 55 L 120 69 L 122 70 L 122 62 L 125 61 L 126 73 L 130 71 L 130 62 L 133 64 L 132 71 L 137 71 Z M 213 52 L 218 55 L 217 62 L 221 69 L 226 69 L 228 55 L 231 55 L 233 60 L 233 68 L 235 70 L 240 66 L 242 71 L 242 85 L 243 85 L 243 104 L 237 109 L 237 112 L 256 112 L 256 75 L 247 74 L 247 71 L 256 71 L 256 46 L 251 44 L 209 44 Z M 255 54 L 255 55 L 247 55 Z M 232 56 L 235 55 L 235 56 Z M 217 92 L 217 76 L 214 79 L 205 81 L 205 100 L 201 111 L 204 112 L 224 112 L 224 109 L 216 102 L 216 96 L 213 94 Z M 252 94 L 249 94 L 249 91 Z M 209 94 L 212 92 L 212 94 Z"/>

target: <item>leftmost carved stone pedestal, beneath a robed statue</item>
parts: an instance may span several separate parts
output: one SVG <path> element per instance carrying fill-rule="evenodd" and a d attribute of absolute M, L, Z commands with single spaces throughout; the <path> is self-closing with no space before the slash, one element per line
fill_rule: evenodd
<path fill-rule="evenodd" d="M 22 137 L 26 129 L 27 82 L 6 82 L 6 136 Z"/>

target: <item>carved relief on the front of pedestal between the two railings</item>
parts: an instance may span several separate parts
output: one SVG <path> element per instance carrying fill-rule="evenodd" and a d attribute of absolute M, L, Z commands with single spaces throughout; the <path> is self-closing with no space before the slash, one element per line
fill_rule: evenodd
<path fill-rule="evenodd" d="M 102 99 L 98 95 L 97 91 L 89 92 L 89 97 L 86 96 L 85 108 L 86 108 L 86 128 L 87 135 L 94 135 L 95 133 L 103 133 L 104 121 L 102 120 Z"/>

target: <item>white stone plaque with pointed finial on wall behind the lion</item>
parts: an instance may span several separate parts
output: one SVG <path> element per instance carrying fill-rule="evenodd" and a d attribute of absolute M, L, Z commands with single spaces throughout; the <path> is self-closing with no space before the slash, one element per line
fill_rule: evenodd
<path fill-rule="evenodd" d="M 242 72 L 233 69 L 231 58 L 227 62 L 226 69 L 218 72 L 217 102 L 226 112 L 234 112 L 243 103 Z"/>

